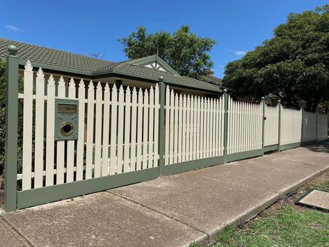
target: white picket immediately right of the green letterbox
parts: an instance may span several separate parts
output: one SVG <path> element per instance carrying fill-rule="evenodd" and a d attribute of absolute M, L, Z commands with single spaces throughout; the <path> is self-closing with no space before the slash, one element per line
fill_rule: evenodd
<path fill-rule="evenodd" d="M 79 130 L 77 141 L 77 181 L 83 180 L 83 153 L 84 153 L 84 135 L 85 135 L 85 104 L 86 104 L 86 90 L 85 83 L 81 79 L 78 90 L 79 100 Z"/>

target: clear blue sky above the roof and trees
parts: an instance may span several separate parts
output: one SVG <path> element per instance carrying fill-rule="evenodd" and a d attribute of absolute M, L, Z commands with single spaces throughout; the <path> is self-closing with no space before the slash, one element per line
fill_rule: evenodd
<path fill-rule="evenodd" d="M 163 4 L 161 4 L 163 3 Z M 191 31 L 218 42 L 211 51 L 214 71 L 271 38 L 289 13 L 313 10 L 321 0 L 103 1 L 3 0 L 0 37 L 77 54 L 104 53 L 109 61 L 125 60 L 118 38 L 137 26 L 172 33 L 188 24 Z"/>

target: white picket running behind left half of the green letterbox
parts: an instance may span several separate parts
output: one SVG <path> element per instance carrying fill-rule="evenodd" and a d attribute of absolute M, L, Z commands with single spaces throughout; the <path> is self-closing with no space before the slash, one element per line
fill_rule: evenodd
<path fill-rule="evenodd" d="M 61 77 L 58 81 L 58 98 L 65 99 L 65 81 Z M 56 184 L 64 183 L 64 163 L 65 163 L 65 141 L 57 141 L 56 155 Z"/>

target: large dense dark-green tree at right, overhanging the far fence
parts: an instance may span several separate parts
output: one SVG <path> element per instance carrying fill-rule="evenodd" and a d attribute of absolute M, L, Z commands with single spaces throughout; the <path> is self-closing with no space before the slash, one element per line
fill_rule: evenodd
<path fill-rule="evenodd" d="M 289 107 L 315 111 L 329 99 L 329 5 L 291 13 L 274 37 L 225 67 L 234 96 L 271 94 Z"/>

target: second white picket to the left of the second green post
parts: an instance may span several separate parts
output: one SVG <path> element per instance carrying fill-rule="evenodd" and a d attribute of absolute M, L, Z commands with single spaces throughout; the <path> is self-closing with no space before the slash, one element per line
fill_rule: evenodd
<path fill-rule="evenodd" d="M 150 88 L 150 104 L 149 104 L 149 138 L 148 138 L 148 168 L 154 167 L 153 145 L 154 143 L 154 90 Z"/>

